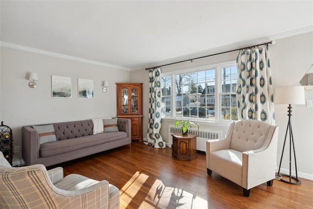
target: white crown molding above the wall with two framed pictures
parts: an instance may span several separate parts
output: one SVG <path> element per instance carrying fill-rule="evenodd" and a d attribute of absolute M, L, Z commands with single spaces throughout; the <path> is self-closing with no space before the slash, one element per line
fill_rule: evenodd
<path fill-rule="evenodd" d="M 88 60 L 88 59 L 82 59 L 79 57 L 73 57 L 73 56 L 69 56 L 69 55 L 65 55 L 65 54 L 59 54 L 59 53 L 55 53 L 55 52 L 51 52 L 51 51 L 45 51 L 45 50 L 41 50 L 41 49 L 37 49 L 37 48 L 31 48 L 31 47 L 27 47 L 27 46 L 15 45 L 15 44 L 10 44 L 10 43 L 5 43 L 5 42 L 0 42 L 0 46 L 7 47 L 7 48 L 13 48 L 13 49 L 19 49 L 22 51 L 33 52 L 33 53 L 37 53 L 37 54 L 44 54 L 44 55 L 53 56 L 53 57 L 59 57 L 59 58 L 68 59 L 68 60 L 74 60 L 74 61 L 78 61 L 78 62 L 89 63 L 92 65 L 99 65 L 99 66 L 119 69 L 119 70 L 127 70 L 127 71 L 131 70 L 129 68 L 124 68 L 124 67 L 120 67 L 120 66 L 116 66 L 116 65 L 110 65 L 107 63 L 97 62 L 97 61 Z"/>

